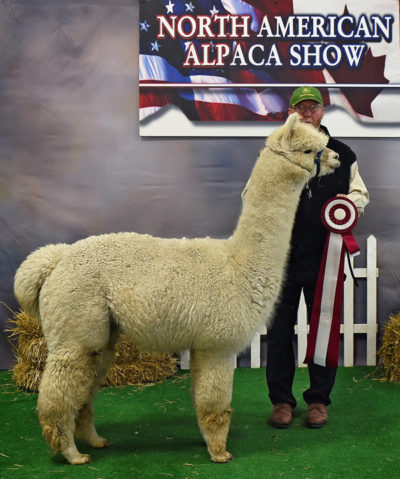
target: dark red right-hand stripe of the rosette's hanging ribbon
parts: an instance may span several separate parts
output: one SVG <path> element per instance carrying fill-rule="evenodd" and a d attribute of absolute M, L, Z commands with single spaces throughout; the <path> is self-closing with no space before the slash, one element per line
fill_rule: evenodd
<path fill-rule="evenodd" d="M 344 253 L 345 248 L 342 244 L 340 253 L 339 271 L 336 283 L 335 300 L 333 303 L 331 332 L 329 336 L 329 345 L 326 355 L 326 365 L 330 368 L 336 368 L 339 358 L 340 343 L 340 323 L 342 321 L 342 304 L 343 304 L 343 283 L 344 283 Z"/>

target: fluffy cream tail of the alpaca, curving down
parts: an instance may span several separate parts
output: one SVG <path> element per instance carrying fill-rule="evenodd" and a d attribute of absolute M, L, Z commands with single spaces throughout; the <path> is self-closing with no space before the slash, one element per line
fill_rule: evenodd
<path fill-rule="evenodd" d="M 40 319 L 39 293 L 46 278 L 64 256 L 67 244 L 50 244 L 31 253 L 18 268 L 14 294 L 23 311 Z"/>

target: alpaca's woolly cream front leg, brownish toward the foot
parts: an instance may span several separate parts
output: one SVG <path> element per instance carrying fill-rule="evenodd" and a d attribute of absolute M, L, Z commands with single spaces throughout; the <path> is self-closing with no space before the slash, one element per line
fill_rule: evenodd
<path fill-rule="evenodd" d="M 232 409 L 234 356 L 191 352 L 192 398 L 200 431 L 213 462 L 229 462 L 226 450 Z"/>

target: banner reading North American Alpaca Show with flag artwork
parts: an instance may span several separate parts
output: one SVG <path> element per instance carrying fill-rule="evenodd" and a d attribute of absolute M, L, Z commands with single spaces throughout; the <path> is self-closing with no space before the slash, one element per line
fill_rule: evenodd
<path fill-rule="evenodd" d="M 276 127 L 302 85 L 321 89 L 327 113 L 400 125 L 398 0 L 141 0 L 139 30 L 147 127 L 171 109 Z"/>

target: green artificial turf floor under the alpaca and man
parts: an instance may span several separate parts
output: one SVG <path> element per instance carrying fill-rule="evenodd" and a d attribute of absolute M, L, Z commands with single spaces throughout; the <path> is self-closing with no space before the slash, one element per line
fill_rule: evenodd
<path fill-rule="evenodd" d="M 112 444 L 91 449 L 90 464 L 53 456 L 41 436 L 36 395 L 18 391 L 0 372 L 0 478 L 398 478 L 400 385 L 371 379 L 372 368 L 340 368 L 328 426 L 304 427 L 306 369 L 296 372 L 299 399 L 292 427 L 267 424 L 271 406 L 264 369 L 235 373 L 229 464 L 210 462 L 190 400 L 189 375 L 145 388 L 105 388 L 96 397 L 96 426 Z"/>

